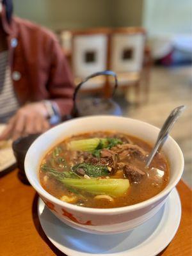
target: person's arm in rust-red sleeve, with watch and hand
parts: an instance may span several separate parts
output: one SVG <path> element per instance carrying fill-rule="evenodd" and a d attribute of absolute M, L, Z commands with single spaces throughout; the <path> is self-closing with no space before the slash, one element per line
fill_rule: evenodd
<path fill-rule="evenodd" d="M 51 54 L 47 90 L 49 99 L 22 106 L 10 119 L 0 140 L 13 140 L 31 133 L 44 132 L 50 124 L 56 124 L 64 116 L 70 115 L 74 85 L 67 60 L 58 42 L 51 38 L 48 54 Z"/>

